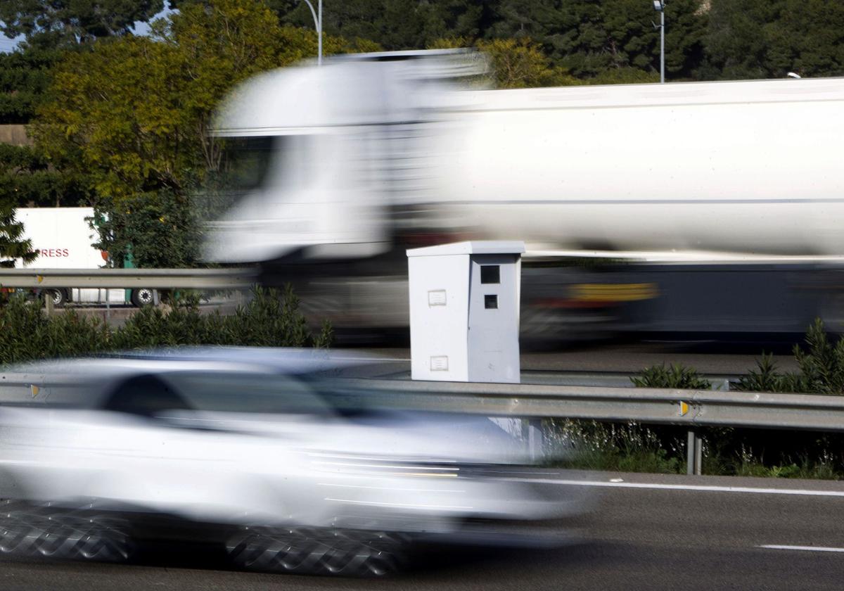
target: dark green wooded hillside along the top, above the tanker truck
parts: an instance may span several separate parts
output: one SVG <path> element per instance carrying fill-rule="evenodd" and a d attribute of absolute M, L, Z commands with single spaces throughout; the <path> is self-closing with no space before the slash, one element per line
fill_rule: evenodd
<path fill-rule="evenodd" d="M 268 5 L 284 23 L 313 26 L 305 3 Z M 844 73 L 844 3 L 671 0 L 665 19 L 668 79 Z M 658 14 L 643 0 L 347 0 L 327 3 L 323 21 L 329 34 L 386 50 L 532 39 L 552 68 L 605 83 L 652 81 L 659 68 Z"/>

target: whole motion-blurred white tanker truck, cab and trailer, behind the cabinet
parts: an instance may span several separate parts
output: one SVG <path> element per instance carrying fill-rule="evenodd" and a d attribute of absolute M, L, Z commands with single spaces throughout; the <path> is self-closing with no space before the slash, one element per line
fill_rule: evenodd
<path fill-rule="evenodd" d="M 542 261 L 525 271 L 528 327 L 536 306 L 564 332 L 799 332 L 836 315 L 844 80 L 455 84 L 478 63 L 369 54 L 247 81 L 215 132 L 246 182 L 208 257 L 262 263 L 338 328 L 406 327 L 404 250 L 468 239 L 522 240 Z M 626 263 L 568 264 L 587 257 Z M 744 326 L 731 306 L 760 297 Z M 723 322 L 695 312 L 712 301 Z"/>

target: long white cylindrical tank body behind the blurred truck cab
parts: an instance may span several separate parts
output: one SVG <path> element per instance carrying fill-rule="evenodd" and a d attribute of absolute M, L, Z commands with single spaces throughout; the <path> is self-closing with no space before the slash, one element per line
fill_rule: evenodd
<path fill-rule="evenodd" d="M 844 79 L 468 93 L 441 223 L 542 249 L 844 254 Z"/>

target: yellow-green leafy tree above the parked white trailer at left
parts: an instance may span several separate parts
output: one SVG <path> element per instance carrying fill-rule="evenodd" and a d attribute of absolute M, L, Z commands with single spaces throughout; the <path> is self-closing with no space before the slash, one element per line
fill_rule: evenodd
<path fill-rule="evenodd" d="M 168 46 L 145 37 L 69 54 L 32 127 L 37 144 L 88 176 L 101 198 L 181 187 L 194 158 L 189 117 L 173 92 L 180 67 Z"/>

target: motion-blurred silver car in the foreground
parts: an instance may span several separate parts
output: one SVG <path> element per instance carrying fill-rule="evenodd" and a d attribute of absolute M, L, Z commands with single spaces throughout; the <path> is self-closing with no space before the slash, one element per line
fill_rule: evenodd
<path fill-rule="evenodd" d="M 0 551 L 113 560 L 187 539 L 240 567 L 377 575 L 420 540 L 548 541 L 526 524 L 582 507 L 501 478 L 526 452 L 484 417 L 365 404 L 343 376 L 376 361 L 203 349 L 14 368 Z"/>

